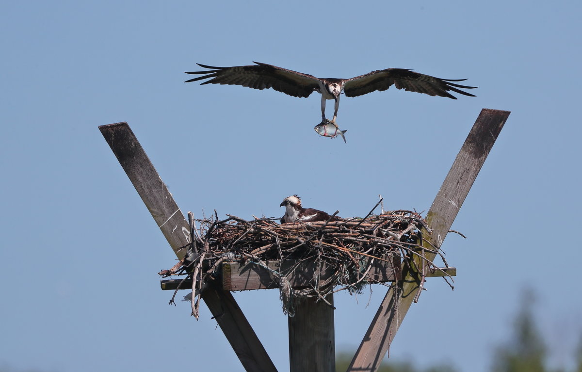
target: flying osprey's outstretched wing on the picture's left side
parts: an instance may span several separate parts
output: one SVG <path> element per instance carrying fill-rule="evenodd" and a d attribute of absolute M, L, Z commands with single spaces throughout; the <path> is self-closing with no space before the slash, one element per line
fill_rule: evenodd
<path fill-rule="evenodd" d="M 315 76 L 267 65 L 267 63 L 254 63 L 257 64 L 234 67 L 215 67 L 196 63 L 198 66 L 210 70 L 186 72 L 204 76 L 186 80 L 184 83 L 210 79 L 200 85 L 210 83 L 242 85 L 243 87 L 259 90 L 273 88 L 293 97 L 308 97 L 313 93 L 314 89 L 320 87 L 319 80 Z"/>

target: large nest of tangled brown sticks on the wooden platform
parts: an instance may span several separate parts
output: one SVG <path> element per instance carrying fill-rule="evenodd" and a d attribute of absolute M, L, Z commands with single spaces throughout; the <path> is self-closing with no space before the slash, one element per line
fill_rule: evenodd
<path fill-rule="evenodd" d="M 278 224 L 275 221 L 279 218 L 246 221 L 227 216 L 219 220 L 215 212 L 211 218 L 194 219 L 189 213 L 193 243 L 183 247 L 187 255 L 179 264 L 159 273 L 164 277 L 183 274 L 192 279 L 191 303 L 196 317 L 200 293 L 221 275 L 222 263 L 251 263 L 266 268 L 268 260 L 314 260 L 315 267 L 331 265 L 334 274 L 325 278 L 324 285 L 317 278 L 314 283 L 320 285 L 304 289 L 290 287 L 290 272 L 269 270 L 279 284 L 283 311 L 292 314 L 295 297 L 317 297 L 327 302 L 325 296 L 338 290 L 360 293 L 369 282 L 366 274 L 375 260 L 392 263 L 396 256 L 406 259 L 418 255 L 414 252 L 421 249 L 421 229 L 431 231 L 420 214 L 406 210 L 294 224 Z"/>

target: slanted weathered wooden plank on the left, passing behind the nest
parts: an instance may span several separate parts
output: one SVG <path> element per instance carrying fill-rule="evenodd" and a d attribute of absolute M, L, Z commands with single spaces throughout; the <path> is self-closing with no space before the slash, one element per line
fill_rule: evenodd
<path fill-rule="evenodd" d="M 102 125 L 99 130 L 172 250 L 178 258 L 183 258 L 185 252 L 180 247 L 190 243 L 189 225 L 129 125 L 126 122 Z M 244 369 L 276 372 L 275 365 L 232 294 L 211 285 L 203 292 L 202 298 Z"/>

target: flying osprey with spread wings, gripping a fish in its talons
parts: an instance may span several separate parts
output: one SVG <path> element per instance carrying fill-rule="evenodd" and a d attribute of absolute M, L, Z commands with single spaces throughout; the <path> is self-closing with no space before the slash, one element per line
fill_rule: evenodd
<path fill-rule="evenodd" d="M 215 67 L 197 63 L 198 66 L 210 70 L 186 72 L 203 76 L 186 80 L 184 83 L 210 79 L 201 83 L 201 85 L 210 83 L 242 85 L 243 87 L 259 90 L 273 88 L 276 91 L 292 95 L 293 97 L 309 97 L 311 93 L 317 91 L 321 93 L 322 122 L 326 120 L 325 101 L 335 100 L 333 119 L 331 121 L 334 124 L 338 117 L 339 95 L 342 91 L 346 97 L 357 97 L 376 90 L 386 90 L 394 85 L 398 89 L 426 93 L 432 96 L 439 95 L 440 97 L 449 97 L 453 100 L 457 98 L 450 94 L 449 91 L 475 97 L 475 95 L 458 88 L 473 89 L 476 87 L 453 83 L 462 82 L 467 79 L 439 79 L 438 77 L 423 75 L 409 69 L 375 70 L 365 75 L 352 77 L 352 79 L 320 79 L 306 73 L 267 65 L 267 63 L 254 63 L 256 65 L 233 67 Z"/>

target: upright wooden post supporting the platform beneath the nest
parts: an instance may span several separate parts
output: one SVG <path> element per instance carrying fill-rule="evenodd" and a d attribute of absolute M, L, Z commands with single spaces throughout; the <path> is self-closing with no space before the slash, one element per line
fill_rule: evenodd
<path fill-rule="evenodd" d="M 325 299 L 333 305 L 333 294 Z M 289 372 L 335 372 L 333 308 L 314 298 L 297 300 L 289 319 Z"/>

